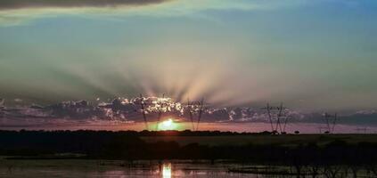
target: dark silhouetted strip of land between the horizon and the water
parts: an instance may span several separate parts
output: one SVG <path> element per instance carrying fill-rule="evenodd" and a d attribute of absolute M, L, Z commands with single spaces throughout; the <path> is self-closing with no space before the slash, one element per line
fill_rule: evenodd
<path fill-rule="evenodd" d="M 0 131 L 8 159 L 234 160 L 275 165 L 377 163 L 376 134 Z"/>

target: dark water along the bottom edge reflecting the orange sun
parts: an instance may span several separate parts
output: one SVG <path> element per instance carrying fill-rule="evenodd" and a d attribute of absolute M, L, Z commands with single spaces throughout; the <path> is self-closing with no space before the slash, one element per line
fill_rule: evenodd
<path fill-rule="evenodd" d="M 232 170 L 275 170 L 269 174 L 232 173 Z M 300 177 L 312 177 L 310 167 L 302 167 Z M 320 166 L 316 172 L 318 178 L 336 177 L 375 177 L 365 168 L 358 167 L 357 174 L 353 174 L 349 166 Z M 377 167 L 376 167 L 377 168 Z M 174 177 L 250 177 L 250 178 L 293 178 L 297 174 L 281 174 L 282 170 L 294 172 L 290 166 L 255 166 L 241 165 L 240 163 L 222 162 L 211 165 L 209 161 L 135 161 L 132 164 L 127 161 L 111 160 L 6 160 L 0 158 L 0 177 L 5 178 L 174 178 Z M 293 173 L 291 172 L 291 173 Z M 253 172 L 255 173 L 255 172 Z M 266 171 L 265 171 L 266 173 Z"/>

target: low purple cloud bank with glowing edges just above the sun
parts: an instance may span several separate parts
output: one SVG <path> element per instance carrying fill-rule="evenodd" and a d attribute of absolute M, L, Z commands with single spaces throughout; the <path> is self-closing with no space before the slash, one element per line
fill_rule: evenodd
<path fill-rule="evenodd" d="M 144 111 L 149 121 L 156 121 L 160 110 L 157 109 L 160 102 L 157 98 L 143 98 L 144 103 L 149 104 Z M 88 101 L 63 101 L 49 106 L 22 106 L 6 107 L 4 101 L 0 101 L 0 119 L 11 122 L 12 125 L 23 125 L 25 121 L 47 122 L 53 124 L 57 120 L 72 122 L 86 121 L 117 121 L 117 122 L 143 122 L 141 98 L 124 99 L 118 98 L 111 102 L 89 103 Z M 192 105 L 194 117 L 199 114 L 198 105 Z M 174 116 L 181 121 L 190 121 L 188 106 L 174 101 L 165 101 L 163 104 L 163 116 Z M 301 113 L 287 109 L 286 116 L 293 123 L 324 123 L 322 113 Z M 345 125 L 377 125 L 377 112 L 358 111 L 353 114 L 340 115 L 339 123 Z M 266 110 L 258 108 L 211 108 L 206 107 L 202 112 L 202 122 L 207 123 L 252 123 L 269 122 Z M 64 123 L 62 123 L 64 124 Z M 7 123 L 3 123 L 3 127 Z"/>

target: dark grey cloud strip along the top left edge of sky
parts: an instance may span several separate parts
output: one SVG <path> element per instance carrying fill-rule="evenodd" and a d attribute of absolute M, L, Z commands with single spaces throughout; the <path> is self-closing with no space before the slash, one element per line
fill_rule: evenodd
<path fill-rule="evenodd" d="M 40 7 L 116 7 L 122 5 L 160 4 L 168 0 L 1 0 L 0 10 Z"/>

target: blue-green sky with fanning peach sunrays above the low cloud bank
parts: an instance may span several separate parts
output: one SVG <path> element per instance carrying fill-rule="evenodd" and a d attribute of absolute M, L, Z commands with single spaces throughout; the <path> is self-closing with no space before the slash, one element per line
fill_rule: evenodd
<path fill-rule="evenodd" d="M 217 108 L 283 102 L 374 113 L 376 8 L 374 0 L 4 0 L 0 98 L 45 107 L 165 93 Z"/>

